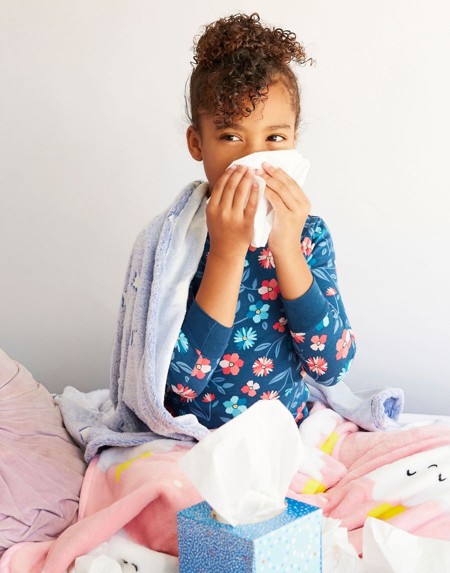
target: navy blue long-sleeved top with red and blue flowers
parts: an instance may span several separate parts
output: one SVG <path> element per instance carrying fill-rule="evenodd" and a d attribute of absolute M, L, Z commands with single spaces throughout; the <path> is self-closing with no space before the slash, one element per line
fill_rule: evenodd
<path fill-rule="evenodd" d="M 332 386 L 356 352 L 338 289 L 334 245 L 321 217 L 308 215 L 301 250 L 313 275 L 309 290 L 285 300 L 266 246 L 248 248 L 235 320 L 226 327 L 196 303 L 210 250 L 207 234 L 188 291 L 187 312 L 169 365 L 164 405 L 195 414 L 210 429 L 263 400 L 281 400 L 299 424 L 308 415 L 306 375 Z M 223 269 L 227 280 L 227 269 Z"/>

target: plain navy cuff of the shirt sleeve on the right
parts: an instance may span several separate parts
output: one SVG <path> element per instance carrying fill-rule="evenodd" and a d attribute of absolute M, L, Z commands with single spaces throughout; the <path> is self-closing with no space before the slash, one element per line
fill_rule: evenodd
<path fill-rule="evenodd" d="M 307 332 L 321 323 L 330 305 L 313 277 L 313 284 L 298 299 L 285 300 L 280 295 L 291 331 Z"/>

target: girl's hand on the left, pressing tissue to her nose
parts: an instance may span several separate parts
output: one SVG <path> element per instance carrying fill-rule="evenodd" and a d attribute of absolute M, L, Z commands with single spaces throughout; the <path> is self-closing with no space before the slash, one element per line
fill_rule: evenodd
<path fill-rule="evenodd" d="M 206 224 L 210 234 L 210 253 L 240 257 L 247 254 L 253 237 L 258 185 L 251 186 L 254 170 L 249 171 L 247 166 L 232 167 L 220 176 L 211 192 L 206 206 Z"/>

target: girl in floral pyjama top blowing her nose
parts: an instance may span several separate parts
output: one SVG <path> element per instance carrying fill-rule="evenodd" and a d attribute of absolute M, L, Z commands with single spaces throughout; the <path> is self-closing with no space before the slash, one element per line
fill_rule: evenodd
<path fill-rule="evenodd" d="M 255 151 L 295 148 L 300 98 L 289 62 L 304 64 L 305 51 L 289 30 L 236 14 L 206 26 L 194 60 L 187 144 L 203 161 L 211 200 L 164 405 L 214 429 L 260 399 L 281 400 L 301 423 L 305 376 L 336 384 L 356 351 L 331 234 L 294 179 L 263 163 L 256 173 L 275 218 L 267 245 L 252 248 L 254 170 L 224 170 Z"/>

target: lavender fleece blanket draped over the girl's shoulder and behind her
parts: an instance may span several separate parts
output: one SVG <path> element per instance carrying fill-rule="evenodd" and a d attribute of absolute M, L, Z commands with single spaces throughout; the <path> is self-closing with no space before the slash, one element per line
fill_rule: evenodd
<path fill-rule="evenodd" d="M 172 415 L 164 390 L 187 308 L 188 288 L 207 236 L 208 182 L 188 183 L 138 234 L 128 261 L 110 362 L 110 387 L 54 394 L 64 423 L 89 462 L 104 446 L 132 446 L 161 436 L 200 440 L 210 430 L 193 414 Z M 324 387 L 310 377 L 310 400 L 366 430 L 400 427 L 400 388 L 352 392 L 344 380 Z"/>

